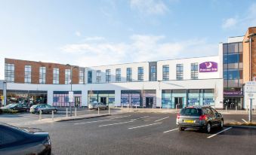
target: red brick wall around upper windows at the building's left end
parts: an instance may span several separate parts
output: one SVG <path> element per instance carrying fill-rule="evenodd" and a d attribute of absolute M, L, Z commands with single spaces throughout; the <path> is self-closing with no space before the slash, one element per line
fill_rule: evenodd
<path fill-rule="evenodd" d="M 49 62 L 33 62 L 27 60 L 20 59 L 8 59 L 5 58 L 5 63 L 14 64 L 15 72 L 14 72 L 14 83 L 24 84 L 24 72 L 25 65 L 31 65 L 31 84 L 39 84 L 39 68 L 46 68 L 46 84 L 53 84 L 53 70 L 54 68 L 59 68 L 59 84 L 65 84 L 65 69 L 70 69 L 69 66 L 57 64 L 57 63 L 49 63 Z M 79 84 L 79 68 L 72 69 L 72 84 Z"/>

